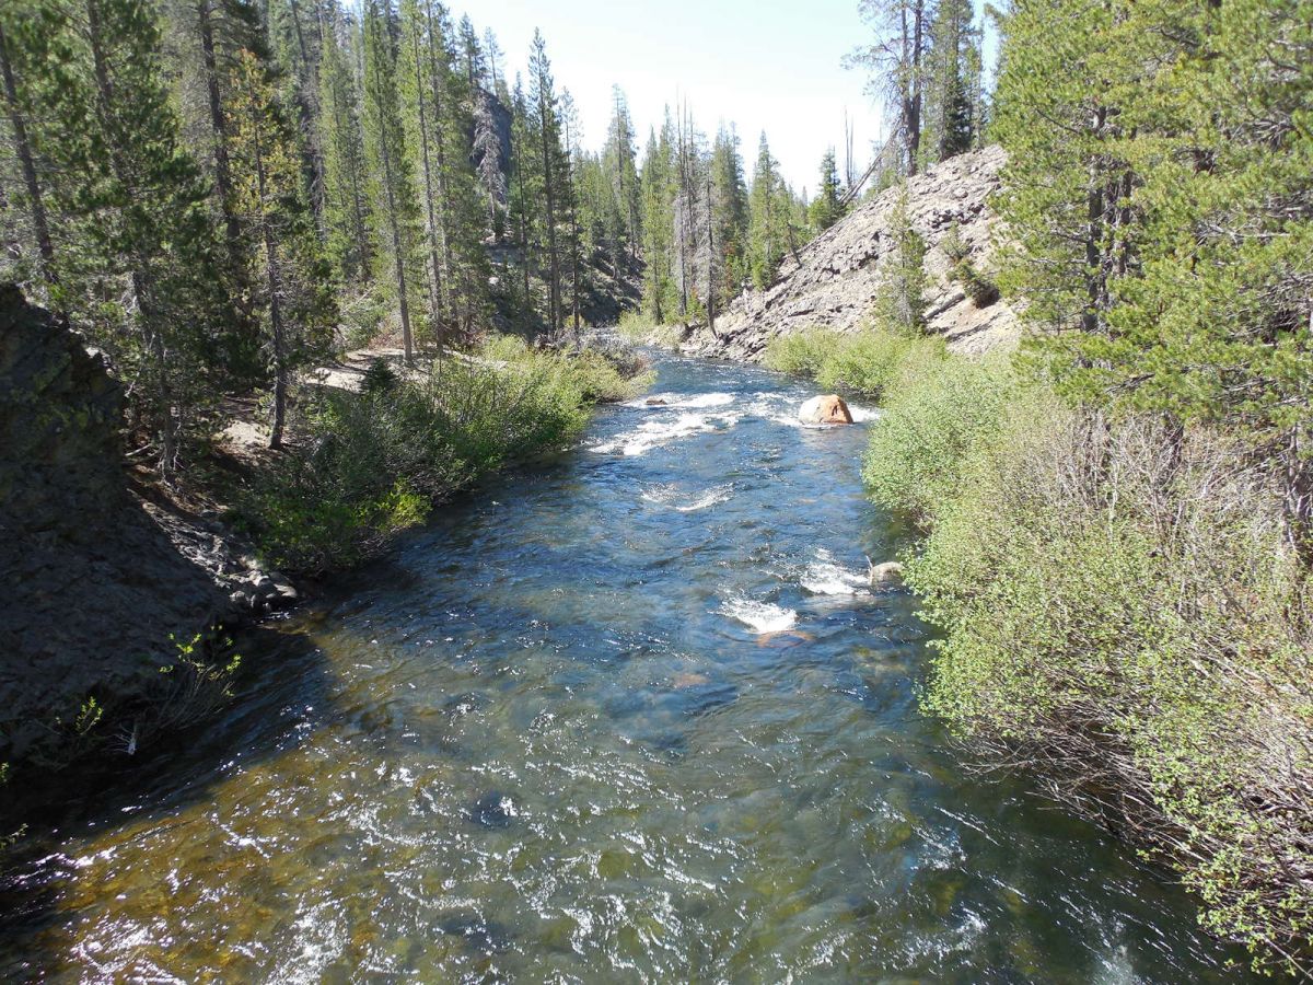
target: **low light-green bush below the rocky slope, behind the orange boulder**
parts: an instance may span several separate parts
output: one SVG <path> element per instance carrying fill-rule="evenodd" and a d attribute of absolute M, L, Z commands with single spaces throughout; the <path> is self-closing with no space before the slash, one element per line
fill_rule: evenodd
<path fill-rule="evenodd" d="M 809 328 L 776 336 L 765 352 L 772 369 L 815 380 L 826 390 L 881 398 L 899 380 L 920 376 L 944 359 L 937 338 L 865 330 L 842 334 Z"/>

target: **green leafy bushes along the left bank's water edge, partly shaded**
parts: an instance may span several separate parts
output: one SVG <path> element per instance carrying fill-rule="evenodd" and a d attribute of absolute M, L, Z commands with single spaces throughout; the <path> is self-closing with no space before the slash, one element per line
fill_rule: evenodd
<path fill-rule="evenodd" d="M 435 502 L 574 440 L 601 373 L 502 339 L 420 381 L 330 390 L 298 422 L 302 448 L 261 477 L 242 519 L 280 567 L 349 566 Z"/>

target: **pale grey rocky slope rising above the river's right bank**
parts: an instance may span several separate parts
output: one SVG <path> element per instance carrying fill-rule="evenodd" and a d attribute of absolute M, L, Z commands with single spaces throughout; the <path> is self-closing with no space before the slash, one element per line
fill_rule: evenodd
<path fill-rule="evenodd" d="M 939 164 L 907 183 L 907 211 L 926 239 L 927 317 L 931 331 L 948 339 L 952 351 L 981 353 L 1015 345 L 1016 313 L 1003 301 L 977 306 L 952 276 L 941 244 L 957 225 L 977 269 L 989 271 L 998 217 L 989 196 L 999 186 L 1004 163 L 1001 147 L 986 147 Z M 886 190 L 850 213 L 832 229 L 786 257 L 768 290 L 747 292 L 717 318 L 716 331 L 695 328 L 683 349 L 696 356 L 760 359 L 776 335 L 811 327 L 857 331 L 869 318 L 884 264 L 894 250 L 890 215 L 898 200 Z"/>

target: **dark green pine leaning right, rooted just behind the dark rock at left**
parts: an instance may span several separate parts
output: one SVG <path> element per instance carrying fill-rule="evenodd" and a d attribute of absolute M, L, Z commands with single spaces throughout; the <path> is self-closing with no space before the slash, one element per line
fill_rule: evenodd
<path fill-rule="evenodd" d="M 144 0 L 84 0 L 85 91 L 60 93 L 71 303 L 134 380 L 143 429 L 171 481 L 215 394 L 217 240 L 200 168 L 179 141 Z M 113 298 L 105 303 L 105 298 Z"/>

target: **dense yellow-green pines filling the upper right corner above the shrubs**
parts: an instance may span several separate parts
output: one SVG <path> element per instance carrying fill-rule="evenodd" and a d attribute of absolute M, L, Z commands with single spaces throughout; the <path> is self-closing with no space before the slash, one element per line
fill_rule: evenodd
<path fill-rule="evenodd" d="M 1007 284 L 1043 327 L 1081 314 L 1045 345 L 1062 389 L 1239 428 L 1279 464 L 1313 563 L 1313 30 L 1297 7 L 1019 5 L 995 126 L 1022 243 Z M 1052 53 L 1081 46 L 1073 76 Z"/>

